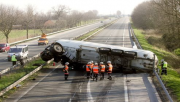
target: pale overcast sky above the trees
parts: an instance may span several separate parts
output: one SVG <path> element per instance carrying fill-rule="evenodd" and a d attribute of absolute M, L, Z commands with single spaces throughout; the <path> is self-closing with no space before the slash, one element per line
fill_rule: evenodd
<path fill-rule="evenodd" d="M 66 5 L 78 11 L 97 10 L 99 14 L 114 14 L 117 10 L 123 14 L 131 14 L 144 1 L 148 0 L 0 0 L 0 4 L 13 5 L 19 9 L 33 5 L 38 12 L 47 12 L 57 5 Z"/>

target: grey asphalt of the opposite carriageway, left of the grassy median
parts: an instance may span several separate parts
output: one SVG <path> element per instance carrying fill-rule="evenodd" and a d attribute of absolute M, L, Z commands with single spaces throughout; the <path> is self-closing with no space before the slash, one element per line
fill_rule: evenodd
<path fill-rule="evenodd" d="M 47 38 L 49 39 L 49 43 L 52 43 L 59 39 L 71 39 L 78 35 L 84 34 L 92 29 L 98 28 L 104 24 L 107 24 L 113 21 L 114 19 L 111 19 L 111 20 L 107 19 L 104 21 L 104 23 L 98 22 L 95 24 L 91 24 L 91 25 L 80 27 L 80 28 L 72 29 L 69 31 L 65 31 L 62 33 L 54 34 L 54 35 L 48 36 Z M 33 57 L 37 55 L 38 53 L 40 53 L 41 51 L 43 51 L 43 49 L 46 47 L 46 46 L 38 46 L 37 43 L 38 43 L 38 39 L 28 41 L 26 43 L 21 43 L 21 45 L 25 45 L 25 44 L 29 45 L 29 57 Z M 7 56 L 8 55 L 6 52 L 0 53 L 0 66 L 1 66 L 0 71 L 12 66 L 12 62 L 7 61 Z"/>

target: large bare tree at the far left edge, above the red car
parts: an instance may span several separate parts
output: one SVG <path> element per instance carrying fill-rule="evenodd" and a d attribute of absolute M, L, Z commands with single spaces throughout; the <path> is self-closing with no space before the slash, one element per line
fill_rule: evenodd
<path fill-rule="evenodd" d="M 20 11 L 13 6 L 0 5 L 0 31 L 6 37 L 8 43 L 9 33 L 12 30 L 13 24 L 16 22 Z"/>

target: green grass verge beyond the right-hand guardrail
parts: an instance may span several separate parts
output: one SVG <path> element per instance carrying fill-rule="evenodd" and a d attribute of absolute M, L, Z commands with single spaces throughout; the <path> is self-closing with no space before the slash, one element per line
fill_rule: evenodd
<path fill-rule="evenodd" d="M 176 71 L 177 69 L 175 70 L 172 67 L 174 64 L 173 62 L 179 62 L 179 58 L 171 52 L 150 45 L 145 39 L 145 35 L 142 34 L 142 30 L 136 29 L 135 27 L 133 28 L 143 49 L 154 52 L 159 61 L 161 61 L 161 59 L 165 59 L 168 62 L 168 75 L 161 75 L 161 77 L 166 87 L 168 87 L 172 91 L 172 94 L 178 98 L 178 101 L 180 101 L 180 74 Z M 158 68 L 160 69 L 160 66 L 158 66 Z"/>

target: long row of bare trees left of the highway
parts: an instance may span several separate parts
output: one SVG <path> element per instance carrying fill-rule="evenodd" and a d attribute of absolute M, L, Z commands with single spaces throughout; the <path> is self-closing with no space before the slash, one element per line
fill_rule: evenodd
<path fill-rule="evenodd" d="M 8 43 L 9 34 L 13 28 L 25 29 L 53 29 L 54 31 L 71 28 L 96 19 L 97 10 L 80 12 L 71 10 L 68 6 L 58 5 L 48 12 L 36 12 L 35 7 L 28 5 L 26 9 L 0 4 L 0 31 L 6 37 Z M 47 22 L 49 20 L 49 22 Z M 47 22 L 47 23 L 46 23 Z M 46 23 L 46 24 L 45 24 Z"/>

